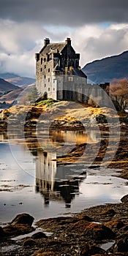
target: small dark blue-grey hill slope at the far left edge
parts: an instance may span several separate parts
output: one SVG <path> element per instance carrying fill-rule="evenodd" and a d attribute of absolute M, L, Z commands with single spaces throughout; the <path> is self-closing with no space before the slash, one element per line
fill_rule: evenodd
<path fill-rule="evenodd" d="M 12 83 L 9 83 L 4 79 L 0 78 L 0 95 L 7 93 L 8 91 L 13 91 L 18 88 L 19 88 L 18 86 L 14 86 Z"/>

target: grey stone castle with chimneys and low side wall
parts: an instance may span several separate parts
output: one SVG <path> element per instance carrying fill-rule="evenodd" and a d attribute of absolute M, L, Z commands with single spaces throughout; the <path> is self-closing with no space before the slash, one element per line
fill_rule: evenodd
<path fill-rule="evenodd" d="M 36 86 L 39 96 L 52 99 L 70 99 L 88 103 L 89 99 L 104 97 L 102 90 L 87 83 L 87 76 L 79 66 L 80 53 L 75 53 L 71 39 L 50 43 L 44 39 L 44 46 L 35 54 Z M 107 90 L 109 83 L 99 87 Z M 104 100 L 105 104 L 105 100 Z"/>

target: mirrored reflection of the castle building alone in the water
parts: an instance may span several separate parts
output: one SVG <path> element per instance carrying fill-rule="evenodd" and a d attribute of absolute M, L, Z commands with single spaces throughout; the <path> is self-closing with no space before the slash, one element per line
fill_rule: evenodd
<path fill-rule="evenodd" d="M 50 200 L 60 200 L 65 202 L 66 208 L 70 207 L 79 192 L 80 181 L 86 178 L 85 173 L 80 177 L 80 167 L 78 172 L 76 169 L 76 165 L 58 165 L 56 153 L 37 150 L 36 191 L 43 195 L 46 206 Z"/>

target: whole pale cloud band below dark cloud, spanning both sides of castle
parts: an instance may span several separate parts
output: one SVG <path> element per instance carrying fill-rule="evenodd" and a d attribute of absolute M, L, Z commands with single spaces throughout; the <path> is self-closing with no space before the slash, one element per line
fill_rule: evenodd
<path fill-rule="evenodd" d="M 13 72 L 34 77 L 34 53 L 39 52 L 43 39 L 63 42 L 71 37 L 72 46 L 80 53 L 80 65 L 127 50 L 128 24 L 118 23 L 103 27 L 88 24 L 77 28 L 41 26 L 40 23 L 0 20 L 0 72 Z"/>

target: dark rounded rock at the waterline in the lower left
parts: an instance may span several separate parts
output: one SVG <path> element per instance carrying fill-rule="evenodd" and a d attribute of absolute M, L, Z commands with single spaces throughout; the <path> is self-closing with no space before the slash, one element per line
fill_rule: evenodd
<path fill-rule="evenodd" d="M 18 214 L 14 219 L 12 219 L 11 224 L 27 224 L 32 225 L 34 217 L 29 214 Z"/>

